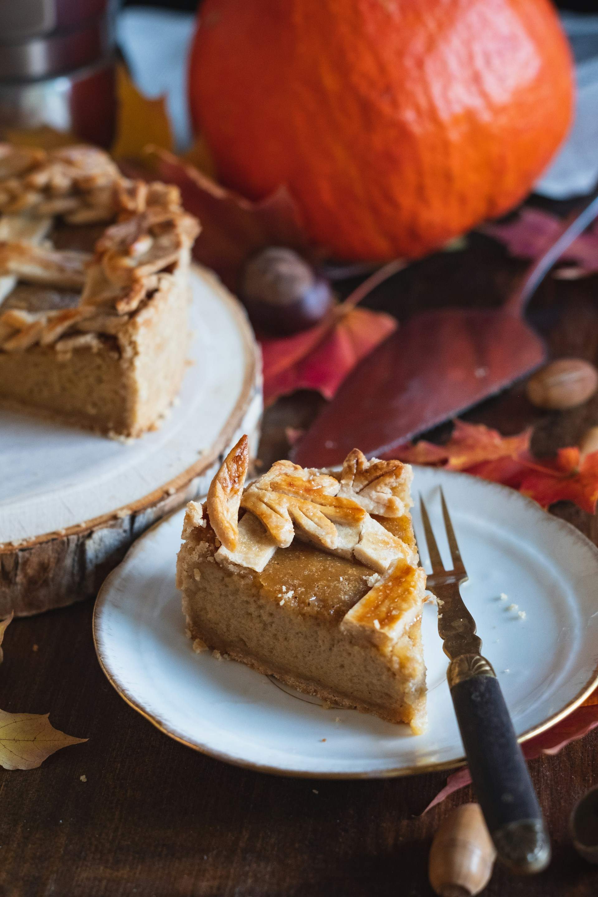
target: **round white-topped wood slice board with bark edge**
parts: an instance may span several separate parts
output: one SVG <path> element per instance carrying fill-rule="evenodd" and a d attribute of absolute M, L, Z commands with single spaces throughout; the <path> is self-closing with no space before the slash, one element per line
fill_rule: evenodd
<path fill-rule="evenodd" d="M 190 364 L 160 430 L 122 443 L 0 410 L 0 618 L 96 594 L 145 529 L 207 491 L 247 432 L 255 453 L 261 360 L 238 301 L 192 272 Z"/>

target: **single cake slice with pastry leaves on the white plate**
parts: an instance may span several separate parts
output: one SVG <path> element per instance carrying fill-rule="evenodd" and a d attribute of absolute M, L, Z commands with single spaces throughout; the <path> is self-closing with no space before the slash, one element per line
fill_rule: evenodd
<path fill-rule="evenodd" d="M 243 437 L 186 510 L 177 574 L 195 649 L 421 732 L 411 467 L 355 449 L 340 472 L 278 461 L 244 488 L 247 465 Z"/>

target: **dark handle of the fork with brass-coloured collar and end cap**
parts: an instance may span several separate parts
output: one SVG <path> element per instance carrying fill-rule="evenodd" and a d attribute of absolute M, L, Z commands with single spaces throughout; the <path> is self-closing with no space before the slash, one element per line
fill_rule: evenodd
<path fill-rule="evenodd" d="M 451 663 L 448 682 L 473 789 L 498 857 L 520 875 L 540 872 L 550 840 L 507 704 L 490 663 L 466 657 Z"/>

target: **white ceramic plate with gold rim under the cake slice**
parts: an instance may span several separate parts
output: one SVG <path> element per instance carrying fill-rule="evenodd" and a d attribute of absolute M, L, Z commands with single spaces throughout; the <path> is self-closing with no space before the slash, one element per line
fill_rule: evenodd
<path fill-rule="evenodd" d="M 470 574 L 463 597 L 482 650 L 497 671 L 517 735 L 530 737 L 573 710 L 596 683 L 598 550 L 518 492 L 419 467 L 414 494 L 422 492 L 438 534 L 439 485 Z M 420 535 L 417 508 L 413 518 Z M 464 759 L 434 605 L 426 605 L 423 617 L 424 735 L 354 710 L 325 710 L 246 666 L 194 653 L 175 588 L 181 524 L 179 512 L 134 544 L 95 608 L 100 663 L 136 710 L 196 750 L 286 775 L 405 775 Z M 438 537 L 438 543 L 448 561 L 446 541 Z"/>

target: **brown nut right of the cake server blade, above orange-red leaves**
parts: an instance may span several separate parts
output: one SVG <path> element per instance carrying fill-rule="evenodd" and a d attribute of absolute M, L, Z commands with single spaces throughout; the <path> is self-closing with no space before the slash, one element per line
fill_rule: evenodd
<path fill-rule="evenodd" d="M 594 396 L 598 371 L 580 358 L 559 358 L 539 370 L 527 382 L 527 397 L 532 405 L 563 411 L 575 408 Z"/>

